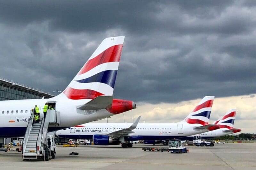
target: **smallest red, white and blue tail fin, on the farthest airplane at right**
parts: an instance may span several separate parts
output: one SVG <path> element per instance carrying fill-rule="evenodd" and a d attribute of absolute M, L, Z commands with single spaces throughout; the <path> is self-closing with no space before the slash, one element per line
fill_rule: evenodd
<path fill-rule="evenodd" d="M 236 109 L 231 109 L 221 118 L 219 122 L 217 122 L 217 125 L 219 125 L 220 128 L 233 129 L 235 118 Z"/>

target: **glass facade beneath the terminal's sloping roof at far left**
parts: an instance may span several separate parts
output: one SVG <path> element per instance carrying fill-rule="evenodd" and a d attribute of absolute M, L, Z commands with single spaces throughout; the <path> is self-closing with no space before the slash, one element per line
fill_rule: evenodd
<path fill-rule="evenodd" d="M 36 95 L 27 91 L 0 85 L 0 100 L 41 99 L 42 95 Z"/>

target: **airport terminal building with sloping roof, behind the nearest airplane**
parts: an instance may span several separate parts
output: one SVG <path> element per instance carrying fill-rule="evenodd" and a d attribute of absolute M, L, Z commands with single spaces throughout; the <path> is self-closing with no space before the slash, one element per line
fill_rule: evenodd
<path fill-rule="evenodd" d="M 0 100 L 41 99 L 43 97 L 48 99 L 54 95 L 10 80 L 0 79 Z M 10 142 L 11 138 L 0 138 L 0 145 Z"/>

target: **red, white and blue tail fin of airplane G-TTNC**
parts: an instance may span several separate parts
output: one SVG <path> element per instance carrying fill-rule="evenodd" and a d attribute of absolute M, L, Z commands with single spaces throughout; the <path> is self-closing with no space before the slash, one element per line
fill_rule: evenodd
<path fill-rule="evenodd" d="M 214 96 L 205 96 L 196 108 L 186 117 L 185 121 L 189 124 L 201 124 L 202 126 L 208 125 L 213 100 Z"/>

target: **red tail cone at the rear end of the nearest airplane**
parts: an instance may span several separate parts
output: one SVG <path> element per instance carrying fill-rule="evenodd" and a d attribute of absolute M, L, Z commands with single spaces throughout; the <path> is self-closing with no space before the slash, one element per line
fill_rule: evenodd
<path fill-rule="evenodd" d="M 119 114 L 136 108 L 134 101 L 113 99 L 112 105 L 106 108 L 106 110 L 113 114 Z"/>

